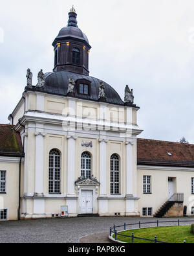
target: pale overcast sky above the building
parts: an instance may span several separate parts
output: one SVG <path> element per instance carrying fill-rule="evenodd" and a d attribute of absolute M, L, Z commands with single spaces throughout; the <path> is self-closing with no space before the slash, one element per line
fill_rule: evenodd
<path fill-rule="evenodd" d="M 52 71 L 52 41 L 74 5 L 92 46 L 90 75 L 140 106 L 140 137 L 194 143 L 193 0 L 1 0 L 0 122 L 21 99 L 27 68 Z"/>

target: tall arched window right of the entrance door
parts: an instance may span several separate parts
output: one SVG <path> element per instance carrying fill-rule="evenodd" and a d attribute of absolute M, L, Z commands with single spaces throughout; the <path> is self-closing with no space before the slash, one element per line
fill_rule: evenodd
<path fill-rule="evenodd" d="M 116 154 L 111 156 L 111 194 L 120 194 L 120 161 Z"/>

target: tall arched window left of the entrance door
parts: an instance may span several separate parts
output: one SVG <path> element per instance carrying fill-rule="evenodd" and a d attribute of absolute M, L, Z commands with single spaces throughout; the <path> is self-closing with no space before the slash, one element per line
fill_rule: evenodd
<path fill-rule="evenodd" d="M 52 149 L 49 153 L 49 174 L 48 192 L 60 193 L 61 187 L 61 154 L 58 150 Z"/>

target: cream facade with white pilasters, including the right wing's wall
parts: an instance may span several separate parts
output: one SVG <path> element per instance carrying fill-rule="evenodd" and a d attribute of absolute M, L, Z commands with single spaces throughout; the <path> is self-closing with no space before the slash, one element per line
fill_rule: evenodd
<path fill-rule="evenodd" d="M 13 115 L 16 130 L 25 137 L 25 161 L 21 172 L 22 219 L 60 216 L 62 205 L 68 206 L 69 216 L 153 216 L 173 192 L 184 193 L 187 214 L 192 214 L 194 169 L 137 166 L 136 136 L 142 132 L 136 124 L 137 108 L 38 95 L 31 91 L 24 97 L 25 113 L 20 110 L 24 104 L 22 99 Z M 118 115 L 110 120 L 109 113 L 113 110 Z M 85 117 L 88 112 L 92 117 Z M 20 124 L 15 117 L 21 118 Z M 53 149 L 58 150 L 60 159 L 57 192 L 49 189 L 49 154 Z M 91 156 L 90 167 L 85 169 L 81 167 L 84 152 Z M 114 192 L 111 187 L 113 155 L 118 157 L 115 161 L 119 177 Z M 88 169 L 92 178 L 80 178 L 81 172 L 87 173 Z M 146 193 L 144 176 L 151 180 L 150 191 Z M 8 205 L 8 208 L 12 207 Z"/>

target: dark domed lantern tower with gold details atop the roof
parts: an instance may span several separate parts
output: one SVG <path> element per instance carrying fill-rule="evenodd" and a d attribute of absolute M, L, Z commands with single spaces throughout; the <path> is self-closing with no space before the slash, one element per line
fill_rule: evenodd
<path fill-rule="evenodd" d="M 53 71 L 71 71 L 88 76 L 91 45 L 89 45 L 87 36 L 78 28 L 76 18 L 76 10 L 72 7 L 67 27 L 59 31 L 52 43 L 54 47 Z"/>

